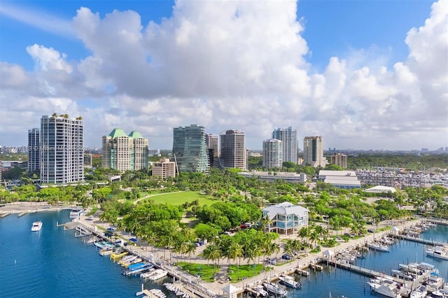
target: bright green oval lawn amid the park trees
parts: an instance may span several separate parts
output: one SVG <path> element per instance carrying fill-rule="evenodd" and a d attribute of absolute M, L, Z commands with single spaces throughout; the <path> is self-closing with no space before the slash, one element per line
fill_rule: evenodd
<path fill-rule="evenodd" d="M 200 206 L 203 205 L 211 205 L 216 201 L 214 197 L 207 196 L 205 194 L 200 194 L 199 192 L 170 192 L 170 193 L 162 193 L 162 194 L 153 194 L 146 199 L 142 199 L 141 201 L 154 201 L 156 204 L 172 204 L 172 205 L 181 205 L 183 203 L 199 201 Z"/>

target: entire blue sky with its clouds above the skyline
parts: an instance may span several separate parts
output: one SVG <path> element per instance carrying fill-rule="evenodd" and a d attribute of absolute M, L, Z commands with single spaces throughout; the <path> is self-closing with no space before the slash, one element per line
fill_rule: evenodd
<path fill-rule="evenodd" d="M 448 146 L 448 0 L 0 1 L 0 145 L 42 115 L 171 149 L 173 127 Z"/>

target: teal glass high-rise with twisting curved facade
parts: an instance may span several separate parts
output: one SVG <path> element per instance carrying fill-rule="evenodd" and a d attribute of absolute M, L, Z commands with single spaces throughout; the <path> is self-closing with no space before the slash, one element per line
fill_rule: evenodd
<path fill-rule="evenodd" d="M 209 169 L 204 127 L 190 125 L 173 129 L 173 155 L 179 171 L 205 172 Z"/>

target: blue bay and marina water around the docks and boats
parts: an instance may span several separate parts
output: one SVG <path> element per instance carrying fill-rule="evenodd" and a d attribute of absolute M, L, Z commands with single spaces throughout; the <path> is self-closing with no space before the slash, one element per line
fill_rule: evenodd
<path fill-rule="evenodd" d="M 40 232 L 31 232 L 31 224 L 43 222 Z M 121 267 L 102 257 L 92 245 L 75 238 L 74 231 L 56 227 L 68 222 L 69 211 L 31 213 L 18 218 L 9 215 L 0 220 L 0 298 L 3 297 L 135 297 L 141 288 L 136 277 L 125 277 Z M 448 240 L 448 227 L 437 226 L 422 234 L 425 239 Z M 371 250 L 358 265 L 391 273 L 398 263 L 435 264 L 444 278 L 448 261 L 424 255 L 424 246 L 400 241 L 389 253 Z M 297 280 L 302 289 L 290 290 L 288 297 L 374 297 L 366 285 L 368 278 L 353 272 L 324 268 L 311 271 L 309 278 Z M 165 281 L 169 281 L 166 278 Z M 146 283 L 145 288 L 162 288 L 162 283 Z M 224 286 L 224 285 L 223 285 Z M 170 297 L 174 295 L 170 294 Z"/>

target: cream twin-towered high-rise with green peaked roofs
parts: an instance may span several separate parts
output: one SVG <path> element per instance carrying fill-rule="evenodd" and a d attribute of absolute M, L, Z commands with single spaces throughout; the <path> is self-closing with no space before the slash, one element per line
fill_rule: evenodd
<path fill-rule="evenodd" d="M 129 136 L 123 129 L 115 128 L 102 138 L 102 166 L 107 169 L 137 171 L 148 168 L 148 139 L 139 132 Z"/>

